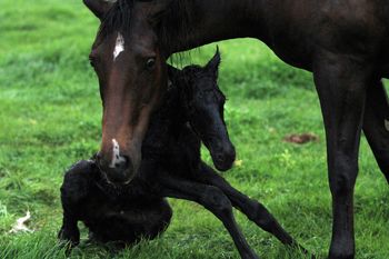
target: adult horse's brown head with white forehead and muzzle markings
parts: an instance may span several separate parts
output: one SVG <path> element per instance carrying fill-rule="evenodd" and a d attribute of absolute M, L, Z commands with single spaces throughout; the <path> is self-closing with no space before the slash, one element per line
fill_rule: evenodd
<path fill-rule="evenodd" d="M 109 181 L 127 183 L 139 168 L 150 113 L 167 87 L 154 27 L 171 0 L 83 2 L 101 21 L 90 53 L 103 104 L 97 160 Z"/>

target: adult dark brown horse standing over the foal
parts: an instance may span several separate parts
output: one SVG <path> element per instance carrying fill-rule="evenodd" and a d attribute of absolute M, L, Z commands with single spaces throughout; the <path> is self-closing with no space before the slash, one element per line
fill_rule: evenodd
<path fill-rule="evenodd" d="M 90 59 L 103 100 L 100 167 L 129 181 L 166 91 L 166 59 L 209 42 L 256 38 L 313 73 L 332 193 L 330 258 L 353 258 L 353 188 L 361 130 L 389 178 L 387 0 L 84 0 L 101 20 Z M 120 158 L 112 163 L 112 140 Z M 113 145 L 114 146 L 114 145 Z M 113 166 L 112 166 L 113 165 Z"/>

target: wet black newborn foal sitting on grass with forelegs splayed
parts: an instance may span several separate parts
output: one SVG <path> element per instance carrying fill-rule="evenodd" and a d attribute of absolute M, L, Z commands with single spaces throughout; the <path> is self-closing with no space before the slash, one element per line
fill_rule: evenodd
<path fill-rule="evenodd" d="M 170 197 L 196 201 L 210 210 L 223 222 L 242 258 L 257 256 L 235 221 L 232 206 L 281 242 L 298 246 L 261 203 L 233 189 L 200 159 L 202 141 L 219 170 L 230 169 L 235 160 L 223 120 L 226 98 L 217 86 L 219 63 L 217 52 L 205 68 L 169 68 L 172 83 L 163 106 L 151 118 L 142 165 L 129 185 L 108 182 L 94 160 L 81 161 L 66 173 L 60 239 L 79 242 L 78 220 L 99 241 L 152 239 L 170 222 L 172 212 L 163 199 Z"/>

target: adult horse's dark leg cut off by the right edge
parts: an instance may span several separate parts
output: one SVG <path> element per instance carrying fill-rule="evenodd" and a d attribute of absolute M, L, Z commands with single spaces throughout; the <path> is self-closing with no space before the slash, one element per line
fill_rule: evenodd
<path fill-rule="evenodd" d="M 367 91 L 363 132 L 389 182 L 389 104 L 380 80 L 369 86 Z"/>

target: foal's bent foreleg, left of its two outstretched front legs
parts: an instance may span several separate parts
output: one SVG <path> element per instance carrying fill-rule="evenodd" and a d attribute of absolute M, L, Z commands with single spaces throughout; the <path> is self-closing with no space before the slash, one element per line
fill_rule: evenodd
<path fill-rule="evenodd" d="M 225 193 L 216 187 L 174 178 L 171 175 L 159 173 L 162 185 L 160 195 L 163 197 L 196 201 L 218 217 L 231 235 L 237 249 L 243 259 L 256 259 L 257 255 L 247 243 L 233 218 L 232 206 Z"/>

